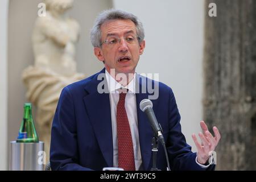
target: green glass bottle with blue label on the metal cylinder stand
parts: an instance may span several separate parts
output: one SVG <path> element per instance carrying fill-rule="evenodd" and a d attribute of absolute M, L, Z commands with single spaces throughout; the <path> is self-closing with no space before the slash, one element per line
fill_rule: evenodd
<path fill-rule="evenodd" d="M 23 121 L 19 129 L 19 135 L 16 142 L 39 142 L 38 134 L 36 133 L 35 123 L 32 118 L 31 103 L 24 104 Z"/>

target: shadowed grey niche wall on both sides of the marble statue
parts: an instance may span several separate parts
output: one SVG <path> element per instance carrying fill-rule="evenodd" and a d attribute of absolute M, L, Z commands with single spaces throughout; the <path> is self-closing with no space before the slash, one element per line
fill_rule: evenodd
<path fill-rule="evenodd" d="M 38 13 L 39 0 L 10 0 L 9 9 L 9 47 L 8 47 L 8 141 L 18 135 L 23 115 L 23 103 L 26 102 L 26 88 L 22 83 L 22 71 L 34 64 L 31 33 Z M 76 0 L 68 13 L 81 26 L 81 35 L 77 44 L 77 70 L 91 75 L 103 67 L 93 55 L 89 41 L 89 30 L 98 13 L 112 7 L 112 1 Z M 35 109 L 34 109 L 35 111 Z M 35 113 L 35 112 L 34 112 Z M 39 136 L 40 137 L 40 136 Z"/>

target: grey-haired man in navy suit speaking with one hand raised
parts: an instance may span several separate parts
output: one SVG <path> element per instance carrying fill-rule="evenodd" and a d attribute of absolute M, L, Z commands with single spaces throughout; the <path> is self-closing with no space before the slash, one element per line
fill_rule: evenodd
<path fill-rule="evenodd" d="M 94 54 L 105 68 L 63 89 L 52 124 L 52 169 L 151 169 L 154 133 L 139 109 L 139 103 L 150 94 L 141 91 L 145 87 L 141 79 L 157 85 L 159 97 L 152 102 L 162 126 L 171 169 L 214 169 L 208 160 L 209 152 L 220 140 L 217 127 L 213 128 L 213 137 L 201 121 L 202 143 L 193 134 L 198 152 L 191 152 L 181 133 L 180 114 L 171 88 L 135 73 L 145 47 L 144 30 L 137 17 L 121 10 L 104 11 L 96 19 L 91 40 Z M 162 146 L 157 159 L 158 169 L 166 170 Z"/>

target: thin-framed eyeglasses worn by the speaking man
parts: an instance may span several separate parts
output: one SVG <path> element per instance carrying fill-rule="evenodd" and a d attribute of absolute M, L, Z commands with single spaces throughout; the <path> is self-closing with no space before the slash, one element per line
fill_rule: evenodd
<path fill-rule="evenodd" d="M 102 42 L 100 46 L 105 43 L 106 46 L 112 47 L 119 44 L 121 42 L 121 39 L 124 39 L 127 44 L 135 44 L 137 40 L 139 40 L 139 36 L 129 35 L 123 38 L 119 38 L 118 36 L 110 36 L 108 39 L 104 40 L 104 42 Z"/>

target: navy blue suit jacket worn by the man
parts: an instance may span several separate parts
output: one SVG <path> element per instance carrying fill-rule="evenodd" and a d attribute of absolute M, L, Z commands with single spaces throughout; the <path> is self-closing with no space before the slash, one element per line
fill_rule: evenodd
<path fill-rule="evenodd" d="M 105 73 L 105 69 L 99 73 Z M 102 170 L 104 167 L 113 167 L 109 94 L 97 92 L 98 84 L 102 81 L 97 80 L 99 73 L 68 85 L 61 92 L 51 131 L 50 162 L 53 170 Z M 139 88 L 142 88 L 140 78 L 145 77 L 137 75 L 136 78 Z M 155 83 L 152 81 L 153 85 Z M 191 152 L 191 147 L 181 133 L 174 93 L 167 85 L 158 83 L 159 97 L 152 102 L 156 118 L 163 129 L 171 169 L 204 170 L 196 163 L 196 154 Z M 148 93 L 136 93 L 142 168 L 150 170 L 153 132 L 146 115 L 139 109 L 139 103 L 144 98 L 148 98 Z M 157 167 L 163 170 L 167 167 L 160 144 Z M 208 169 L 213 168 L 214 165 L 211 165 Z"/>

